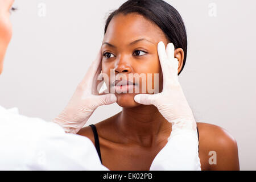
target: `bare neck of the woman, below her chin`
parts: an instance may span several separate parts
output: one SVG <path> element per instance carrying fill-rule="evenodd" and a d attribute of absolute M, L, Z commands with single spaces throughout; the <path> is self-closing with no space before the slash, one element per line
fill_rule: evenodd
<path fill-rule="evenodd" d="M 171 123 L 166 121 L 154 105 L 124 108 L 117 119 L 118 130 L 126 142 L 152 146 L 171 133 Z"/>

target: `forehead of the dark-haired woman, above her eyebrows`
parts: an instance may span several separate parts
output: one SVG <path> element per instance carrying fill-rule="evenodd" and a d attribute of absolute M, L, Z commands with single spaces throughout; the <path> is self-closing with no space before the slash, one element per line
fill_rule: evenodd
<path fill-rule="evenodd" d="M 118 14 L 110 21 L 103 42 L 128 44 L 142 37 L 155 44 L 166 40 L 163 31 L 144 16 L 136 13 Z"/>

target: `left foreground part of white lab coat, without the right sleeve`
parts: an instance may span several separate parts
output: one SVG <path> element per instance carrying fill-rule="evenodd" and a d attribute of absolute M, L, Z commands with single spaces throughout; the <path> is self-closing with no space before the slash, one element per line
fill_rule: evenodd
<path fill-rule="evenodd" d="M 89 138 L 0 106 L 0 170 L 108 170 Z"/>

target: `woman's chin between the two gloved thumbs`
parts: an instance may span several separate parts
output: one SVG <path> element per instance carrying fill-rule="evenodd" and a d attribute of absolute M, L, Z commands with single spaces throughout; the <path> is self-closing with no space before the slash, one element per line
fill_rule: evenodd
<path fill-rule="evenodd" d="M 117 96 L 117 104 L 121 107 L 136 107 L 139 106 L 137 102 L 134 101 L 134 96 L 136 94 L 132 93 L 121 93 L 115 94 Z"/>

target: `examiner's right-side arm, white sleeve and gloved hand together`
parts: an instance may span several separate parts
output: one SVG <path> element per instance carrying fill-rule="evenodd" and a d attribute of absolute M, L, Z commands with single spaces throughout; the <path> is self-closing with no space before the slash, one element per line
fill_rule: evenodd
<path fill-rule="evenodd" d="M 134 100 L 143 105 L 155 105 L 172 123 L 166 146 L 156 155 L 151 170 L 200 170 L 196 121 L 178 80 L 179 61 L 174 57 L 174 44 L 158 43 L 158 56 L 163 72 L 163 91 L 138 94 Z"/>

